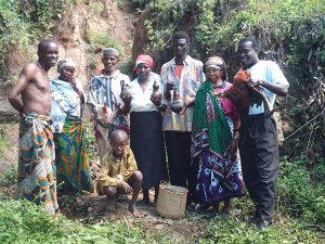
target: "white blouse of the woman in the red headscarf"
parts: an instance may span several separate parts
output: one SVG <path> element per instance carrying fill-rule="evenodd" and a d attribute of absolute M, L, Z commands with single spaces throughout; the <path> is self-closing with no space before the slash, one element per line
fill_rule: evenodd
<path fill-rule="evenodd" d="M 160 80 L 160 76 L 156 73 L 151 73 L 150 81 L 143 92 L 142 88 L 139 85 L 138 78 L 131 81 L 130 90 L 132 94 L 131 100 L 131 112 L 153 112 L 158 111 L 156 105 L 151 101 L 151 97 L 153 93 L 154 82 L 159 86 L 159 92 L 161 95 L 164 94 L 164 87 Z M 164 97 L 164 95 L 162 95 Z M 166 101 L 162 101 L 166 104 Z"/>

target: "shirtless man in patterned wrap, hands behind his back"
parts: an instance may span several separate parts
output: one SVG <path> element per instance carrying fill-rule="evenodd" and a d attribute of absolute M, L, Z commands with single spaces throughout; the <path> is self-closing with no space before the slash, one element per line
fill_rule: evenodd
<path fill-rule="evenodd" d="M 50 127 L 51 92 L 48 72 L 55 66 L 58 50 L 54 40 L 38 44 L 39 59 L 24 66 L 9 94 L 21 113 L 18 194 L 48 211 L 57 209 L 54 143 Z"/>

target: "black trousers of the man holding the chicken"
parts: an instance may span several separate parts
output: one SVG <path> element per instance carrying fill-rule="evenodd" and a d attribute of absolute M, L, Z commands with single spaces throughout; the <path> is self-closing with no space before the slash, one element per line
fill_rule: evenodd
<path fill-rule="evenodd" d="M 276 123 L 271 116 L 253 115 L 243 119 L 239 153 L 256 216 L 271 220 L 280 168 Z"/>

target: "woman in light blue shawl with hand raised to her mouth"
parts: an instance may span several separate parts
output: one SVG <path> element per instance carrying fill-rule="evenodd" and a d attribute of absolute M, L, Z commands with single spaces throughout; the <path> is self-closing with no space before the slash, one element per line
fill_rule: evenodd
<path fill-rule="evenodd" d="M 60 76 L 51 80 L 57 185 L 63 193 L 90 191 L 92 188 L 81 120 L 84 98 L 75 70 L 73 60 L 62 60 L 57 63 Z"/>

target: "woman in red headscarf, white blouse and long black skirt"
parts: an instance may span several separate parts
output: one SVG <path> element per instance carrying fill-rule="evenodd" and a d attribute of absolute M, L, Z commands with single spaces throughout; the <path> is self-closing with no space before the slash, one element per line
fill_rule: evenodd
<path fill-rule="evenodd" d="M 143 200 L 150 203 L 148 190 L 155 188 L 155 201 L 159 183 L 167 179 L 167 165 L 162 134 L 160 110 L 166 105 L 161 101 L 162 85 L 160 76 L 153 73 L 153 59 L 146 54 L 136 57 L 138 78 L 131 81 L 132 94 L 129 104 L 130 141 L 140 171 L 143 174 Z"/>

